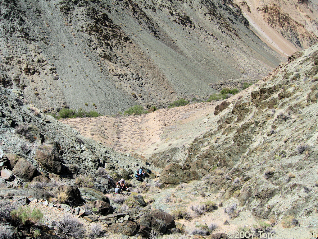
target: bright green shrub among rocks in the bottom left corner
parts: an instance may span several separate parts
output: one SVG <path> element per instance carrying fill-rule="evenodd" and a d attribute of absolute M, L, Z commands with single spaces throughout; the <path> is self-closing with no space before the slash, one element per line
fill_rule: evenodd
<path fill-rule="evenodd" d="M 23 225 L 26 224 L 39 224 L 42 222 L 43 214 L 38 208 L 33 208 L 29 206 L 19 206 L 10 213 L 14 221 L 18 221 Z"/>

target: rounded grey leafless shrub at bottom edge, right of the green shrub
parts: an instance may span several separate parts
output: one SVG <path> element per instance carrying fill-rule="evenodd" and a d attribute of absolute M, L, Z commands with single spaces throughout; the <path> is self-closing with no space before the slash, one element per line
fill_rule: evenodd
<path fill-rule="evenodd" d="M 83 238 L 85 232 L 83 225 L 76 218 L 64 216 L 56 223 L 56 233 L 62 238 Z"/>

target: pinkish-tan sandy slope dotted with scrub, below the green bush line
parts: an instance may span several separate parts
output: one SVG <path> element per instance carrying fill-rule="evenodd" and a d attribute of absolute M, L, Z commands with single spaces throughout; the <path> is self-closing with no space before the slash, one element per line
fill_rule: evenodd
<path fill-rule="evenodd" d="M 149 157 L 169 148 L 184 148 L 211 128 L 214 103 L 160 109 L 141 116 L 101 116 L 61 120 L 85 137 L 114 149 Z"/>

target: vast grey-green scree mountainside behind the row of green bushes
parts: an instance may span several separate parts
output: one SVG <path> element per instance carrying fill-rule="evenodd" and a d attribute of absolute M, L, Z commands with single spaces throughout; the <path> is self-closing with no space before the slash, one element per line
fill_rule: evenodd
<path fill-rule="evenodd" d="M 232 1 L 1 1 L 0 81 L 45 111 L 205 96 L 284 59 Z"/>

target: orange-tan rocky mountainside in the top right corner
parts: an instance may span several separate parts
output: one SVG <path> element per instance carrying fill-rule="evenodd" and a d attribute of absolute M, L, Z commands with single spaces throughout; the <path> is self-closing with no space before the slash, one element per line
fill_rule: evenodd
<path fill-rule="evenodd" d="M 316 1 L 235 1 L 253 31 L 281 54 L 307 48 L 318 39 Z"/>

